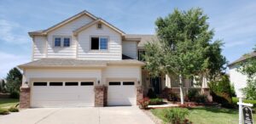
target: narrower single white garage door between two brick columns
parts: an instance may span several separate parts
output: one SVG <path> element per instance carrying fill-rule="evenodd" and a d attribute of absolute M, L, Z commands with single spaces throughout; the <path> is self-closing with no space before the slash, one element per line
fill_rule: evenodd
<path fill-rule="evenodd" d="M 136 105 L 135 82 L 108 82 L 108 105 Z"/>

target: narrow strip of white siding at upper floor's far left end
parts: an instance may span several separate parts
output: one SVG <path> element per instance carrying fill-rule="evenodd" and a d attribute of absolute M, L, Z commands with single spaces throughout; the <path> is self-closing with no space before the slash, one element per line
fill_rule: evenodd
<path fill-rule="evenodd" d="M 33 60 L 46 57 L 46 37 L 34 37 Z"/>

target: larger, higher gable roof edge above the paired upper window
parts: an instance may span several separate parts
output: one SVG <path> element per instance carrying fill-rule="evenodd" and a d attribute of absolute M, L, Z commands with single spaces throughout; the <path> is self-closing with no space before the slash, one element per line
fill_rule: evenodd
<path fill-rule="evenodd" d="M 76 20 L 78 19 L 79 17 L 83 16 L 83 15 L 87 15 L 89 16 L 91 19 L 93 20 L 96 20 L 98 19 L 95 15 L 93 14 L 90 14 L 88 11 L 84 10 L 82 12 L 80 12 L 79 14 L 75 14 L 73 15 L 72 17 L 68 18 L 67 20 L 63 20 L 61 21 L 60 23 L 56 24 L 56 25 L 53 25 L 51 27 L 49 27 L 48 29 L 46 30 L 42 30 L 42 31 L 32 31 L 32 32 L 28 32 L 29 36 L 34 36 L 34 35 L 46 35 L 49 31 L 53 31 L 55 30 L 56 28 L 60 27 L 61 25 L 66 25 L 67 23 L 73 21 L 73 20 Z"/>

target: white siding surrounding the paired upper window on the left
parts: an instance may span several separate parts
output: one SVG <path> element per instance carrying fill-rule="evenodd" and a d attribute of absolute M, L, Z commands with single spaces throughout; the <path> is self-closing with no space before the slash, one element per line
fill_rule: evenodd
<path fill-rule="evenodd" d="M 79 27 L 88 24 L 92 21 L 90 17 L 82 16 L 77 20 L 73 20 L 67 25 L 62 25 L 55 31 L 50 31 L 48 35 L 48 58 L 76 58 L 76 37 L 73 37 L 73 31 Z M 70 47 L 54 47 L 54 37 L 71 37 Z M 63 42 L 61 42 L 63 43 Z"/>

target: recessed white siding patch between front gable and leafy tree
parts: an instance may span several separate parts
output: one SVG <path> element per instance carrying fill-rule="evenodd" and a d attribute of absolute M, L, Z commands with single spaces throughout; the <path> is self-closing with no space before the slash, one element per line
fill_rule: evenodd
<path fill-rule="evenodd" d="M 123 41 L 122 46 L 123 54 L 131 57 L 132 59 L 137 59 L 137 42 Z"/>

